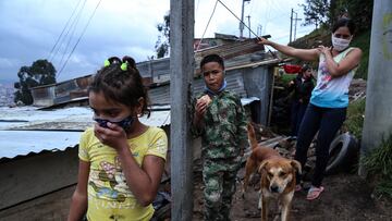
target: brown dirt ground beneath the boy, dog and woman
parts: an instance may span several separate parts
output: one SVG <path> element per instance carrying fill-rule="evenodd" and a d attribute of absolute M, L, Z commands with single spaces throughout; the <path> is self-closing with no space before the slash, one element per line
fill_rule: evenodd
<path fill-rule="evenodd" d="M 257 209 L 258 192 L 248 188 L 245 199 L 242 198 L 241 183 L 244 169 L 238 172 L 236 194 L 233 198 L 231 218 L 233 221 L 260 220 L 260 210 Z M 193 220 L 203 220 L 203 181 L 201 173 L 195 175 L 194 217 Z M 301 221 L 389 221 L 392 220 L 392 201 L 375 198 L 371 187 L 358 175 L 341 173 L 326 176 L 324 192 L 320 198 L 309 201 L 306 192 L 295 193 L 291 220 Z M 240 187 L 240 188 L 238 188 Z M 273 206 L 272 206 L 273 205 Z M 271 202 L 269 220 L 280 220 L 274 202 Z"/>

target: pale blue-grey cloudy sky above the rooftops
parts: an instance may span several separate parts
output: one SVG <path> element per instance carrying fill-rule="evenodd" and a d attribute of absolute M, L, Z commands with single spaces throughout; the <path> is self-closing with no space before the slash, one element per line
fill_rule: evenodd
<path fill-rule="evenodd" d="M 242 0 L 221 1 L 241 16 Z M 245 3 L 244 16 L 250 16 L 255 33 L 261 29 L 261 35 L 287 44 L 291 9 L 303 19 L 298 4 L 304 1 L 250 0 Z M 206 30 L 215 3 L 195 0 L 195 37 Z M 93 74 L 111 56 L 146 61 L 155 54 L 157 24 L 169 10 L 170 0 L 0 0 L 0 83 L 19 81 L 20 67 L 38 59 L 53 63 L 58 82 Z M 248 24 L 246 17 L 245 22 Z M 296 37 L 314 28 L 301 24 Z M 215 33 L 240 34 L 238 21 L 220 3 L 204 37 Z M 248 36 L 247 29 L 244 36 Z"/>

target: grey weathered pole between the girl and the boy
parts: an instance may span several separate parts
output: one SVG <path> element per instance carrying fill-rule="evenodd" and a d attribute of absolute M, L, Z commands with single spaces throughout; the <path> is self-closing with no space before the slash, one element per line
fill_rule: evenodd
<path fill-rule="evenodd" d="M 192 220 L 189 102 L 194 75 L 194 0 L 170 1 L 171 220 Z"/>

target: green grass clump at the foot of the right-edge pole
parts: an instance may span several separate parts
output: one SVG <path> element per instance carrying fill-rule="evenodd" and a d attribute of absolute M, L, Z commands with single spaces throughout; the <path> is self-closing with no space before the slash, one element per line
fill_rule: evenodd
<path fill-rule="evenodd" d="M 360 163 L 369 175 L 376 176 L 375 194 L 392 198 L 392 134 L 380 146 L 370 150 Z"/>

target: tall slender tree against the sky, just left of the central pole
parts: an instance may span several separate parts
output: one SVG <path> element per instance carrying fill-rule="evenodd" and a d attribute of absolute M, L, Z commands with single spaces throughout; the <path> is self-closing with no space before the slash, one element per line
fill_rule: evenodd
<path fill-rule="evenodd" d="M 158 40 L 156 42 L 155 49 L 157 52 L 157 58 L 163 58 L 169 54 L 170 48 L 170 12 L 163 16 L 163 23 L 157 25 L 157 29 L 160 33 Z"/>

